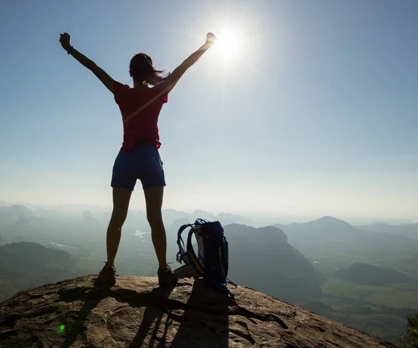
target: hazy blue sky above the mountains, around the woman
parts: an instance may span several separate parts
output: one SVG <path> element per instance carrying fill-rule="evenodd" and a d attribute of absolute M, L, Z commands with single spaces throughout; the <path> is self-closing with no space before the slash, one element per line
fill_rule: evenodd
<path fill-rule="evenodd" d="M 59 33 L 130 84 L 132 52 L 173 70 L 206 32 L 233 30 L 239 54 L 208 52 L 162 109 L 164 206 L 417 218 L 417 13 L 414 0 L 3 1 L 0 200 L 111 206 L 121 116 Z"/>

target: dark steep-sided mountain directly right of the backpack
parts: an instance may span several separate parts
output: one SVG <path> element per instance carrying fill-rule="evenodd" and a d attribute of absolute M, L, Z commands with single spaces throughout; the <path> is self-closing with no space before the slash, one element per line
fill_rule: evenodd
<path fill-rule="evenodd" d="M 320 296 L 325 281 L 276 227 L 224 226 L 229 241 L 229 278 L 261 292 L 300 303 Z"/>

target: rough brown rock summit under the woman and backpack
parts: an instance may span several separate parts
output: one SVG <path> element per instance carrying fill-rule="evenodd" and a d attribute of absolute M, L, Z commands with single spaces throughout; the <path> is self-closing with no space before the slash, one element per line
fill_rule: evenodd
<path fill-rule="evenodd" d="M 248 287 L 233 289 L 233 300 L 201 279 L 162 294 L 157 278 L 118 276 L 111 289 L 94 278 L 0 303 L 0 347 L 394 347 Z"/>

